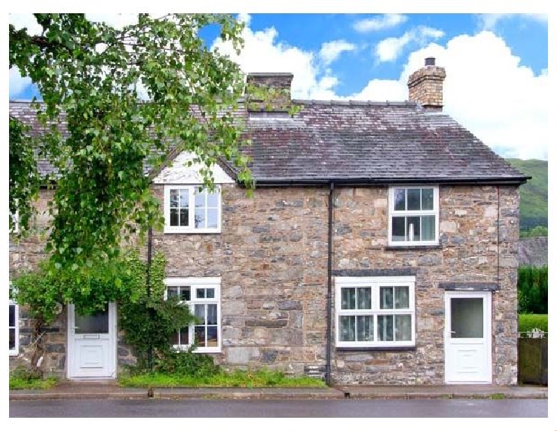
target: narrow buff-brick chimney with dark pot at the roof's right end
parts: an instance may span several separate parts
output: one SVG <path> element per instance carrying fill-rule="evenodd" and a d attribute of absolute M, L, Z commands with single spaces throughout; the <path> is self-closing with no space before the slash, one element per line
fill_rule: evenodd
<path fill-rule="evenodd" d="M 419 102 L 426 111 L 443 110 L 445 68 L 435 65 L 435 58 L 425 58 L 425 66 L 408 77 L 408 100 Z"/>

